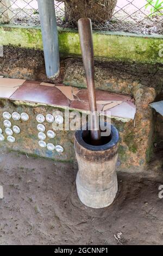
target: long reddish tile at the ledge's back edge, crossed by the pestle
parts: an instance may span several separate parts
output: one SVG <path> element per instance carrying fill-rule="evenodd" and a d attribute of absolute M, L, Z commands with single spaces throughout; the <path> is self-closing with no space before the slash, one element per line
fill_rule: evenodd
<path fill-rule="evenodd" d="M 88 101 L 87 89 L 80 89 L 77 93 L 79 100 Z M 125 96 L 116 93 L 109 93 L 103 90 L 96 90 L 96 101 L 127 101 L 130 100 L 130 96 Z"/>

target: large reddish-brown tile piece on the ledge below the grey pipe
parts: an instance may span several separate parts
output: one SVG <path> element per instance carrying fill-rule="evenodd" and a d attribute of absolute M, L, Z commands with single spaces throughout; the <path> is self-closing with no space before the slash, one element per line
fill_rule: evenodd
<path fill-rule="evenodd" d="M 11 96 L 13 100 L 23 100 L 53 105 L 69 106 L 67 97 L 55 87 L 41 86 L 40 82 L 28 81 Z"/>

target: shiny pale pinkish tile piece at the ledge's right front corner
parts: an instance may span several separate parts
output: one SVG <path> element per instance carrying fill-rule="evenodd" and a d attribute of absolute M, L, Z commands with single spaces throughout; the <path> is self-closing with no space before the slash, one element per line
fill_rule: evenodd
<path fill-rule="evenodd" d="M 122 102 L 120 105 L 109 109 L 112 117 L 134 119 L 136 107 L 132 102 Z"/>

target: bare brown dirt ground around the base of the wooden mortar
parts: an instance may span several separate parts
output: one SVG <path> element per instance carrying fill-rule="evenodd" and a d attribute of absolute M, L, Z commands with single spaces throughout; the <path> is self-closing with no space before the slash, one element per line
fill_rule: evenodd
<path fill-rule="evenodd" d="M 1 152 L 0 244 L 162 244 L 161 169 L 118 173 L 115 202 L 98 210 L 79 202 L 77 169 L 77 164 Z"/>

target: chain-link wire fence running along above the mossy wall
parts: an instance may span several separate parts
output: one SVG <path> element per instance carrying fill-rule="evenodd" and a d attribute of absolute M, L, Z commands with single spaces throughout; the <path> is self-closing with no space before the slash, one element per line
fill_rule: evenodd
<path fill-rule="evenodd" d="M 143 34 L 163 34 L 162 0 L 58 0 L 57 25 L 76 27 L 80 17 L 90 17 L 93 29 Z M 36 0 L 0 0 L 0 23 L 39 26 Z"/>

